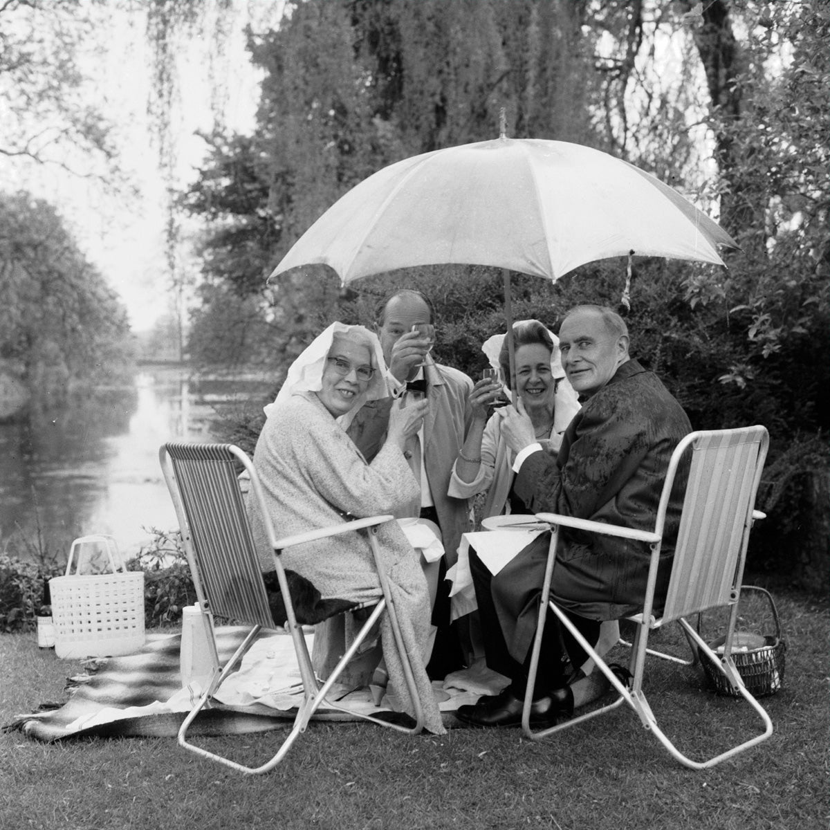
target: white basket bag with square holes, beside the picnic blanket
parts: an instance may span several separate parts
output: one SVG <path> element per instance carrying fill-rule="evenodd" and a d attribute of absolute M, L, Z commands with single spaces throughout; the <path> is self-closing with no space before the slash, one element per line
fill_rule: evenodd
<path fill-rule="evenodd" d="M 74 552 L 74 546 L 73 546 Z M 55 654 L 119 657 L 144 645 L 144 573 L 71 574 L 49 580 Z M 113 564 L 115 569 L 115 563 Z"/>

